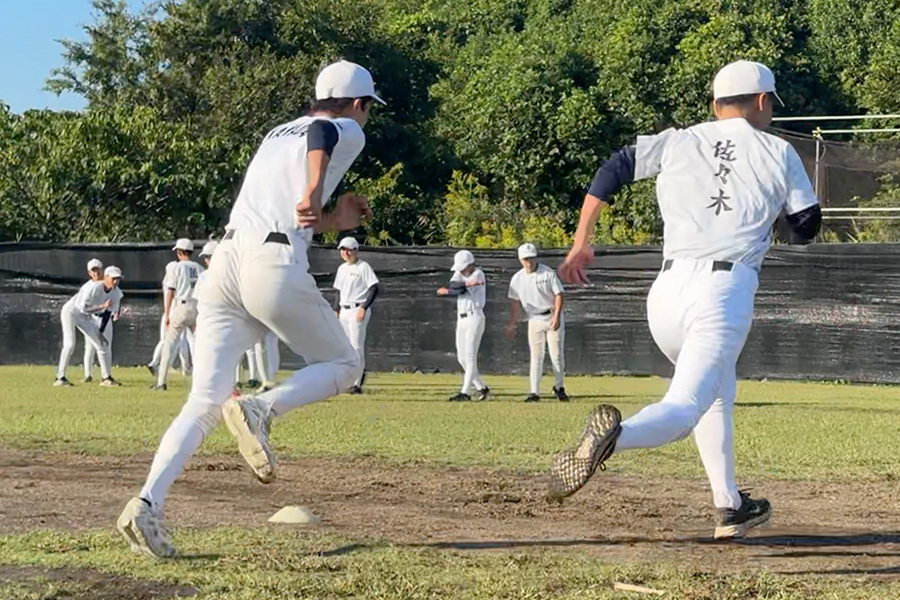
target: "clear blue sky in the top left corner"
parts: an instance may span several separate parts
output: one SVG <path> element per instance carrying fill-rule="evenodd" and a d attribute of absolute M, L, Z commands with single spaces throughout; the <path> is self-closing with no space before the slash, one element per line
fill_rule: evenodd
<path fill-rule="evenodd" d="M 128 0 L 132 11 L 143 0 Z M 0 0 L 0 102 L 13 112 L 29 108 L 78 110 L 81 96 L 43 91 L 50 71 L 60 67 L 62 38 L 84 40 L 93 22 L 90 0 Z"/>

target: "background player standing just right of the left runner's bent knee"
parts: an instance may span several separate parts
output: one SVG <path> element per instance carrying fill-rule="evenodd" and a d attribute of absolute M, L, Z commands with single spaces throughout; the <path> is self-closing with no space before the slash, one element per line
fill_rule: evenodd
<path fill-rule="evenodd" d="M 359 353 L 359 374 L 348 391 L 361 394 L 366 373 L 366 328 L 378 296 L 378 277 L 369 263 L 359 260 L 359 242 L 354 238 L 345 237 L 338 248 L 344 259 L 332 284 L 338 291 L 338 319 L 350 345 Z"/>

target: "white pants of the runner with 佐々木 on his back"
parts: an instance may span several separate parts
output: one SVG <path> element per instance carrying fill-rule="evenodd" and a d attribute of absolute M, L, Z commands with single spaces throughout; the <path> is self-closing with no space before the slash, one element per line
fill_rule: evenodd
<path fill-rule="evenodd" d="M 694 432 L 717 508 L 739 508 L 734 476 L 735 367 L 750 326 L 759 278 L 735 263 L 678 259 L 647 298 L 650 332 L 675 364 L 665 397 L 626 419 L 616 452 L 654 448 Z"/>

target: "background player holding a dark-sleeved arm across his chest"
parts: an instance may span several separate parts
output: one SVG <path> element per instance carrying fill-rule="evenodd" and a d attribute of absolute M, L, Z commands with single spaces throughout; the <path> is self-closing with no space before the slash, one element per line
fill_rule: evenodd
<path fill-rule="evenodd" d="M 472 399 L 472 390 L 479 400 L 487 400 L 490 388 L 478 372 L 478 348 L 484 335 L 484 303 L 487 282 L 484 271 L 475 266 L 475 256 L 460 250 L 453 257 L 453 276 L 450 286 L 438 289 L 439 296 L 456 296 L 456 359 L 463 368 L 463 385 L 450 402 Z"/>

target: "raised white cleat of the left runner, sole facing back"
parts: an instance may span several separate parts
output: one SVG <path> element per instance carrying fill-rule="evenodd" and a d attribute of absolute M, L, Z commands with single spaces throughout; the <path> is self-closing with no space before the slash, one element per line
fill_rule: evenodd
<path fill-rule="evenodd" d="M 254 397 L 229 399 L 222 406 L 228 431 L 238 442 L 238 450 L 256 478 L 263 483 L 275 481 L 275 456 L 269 448 L 267 412 Z"/>

